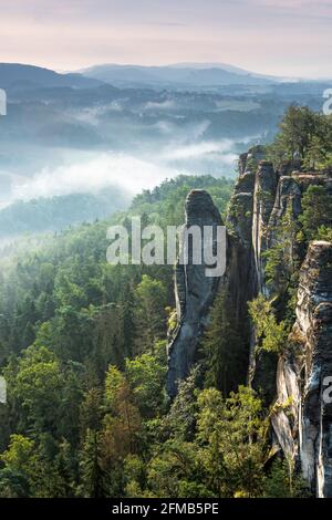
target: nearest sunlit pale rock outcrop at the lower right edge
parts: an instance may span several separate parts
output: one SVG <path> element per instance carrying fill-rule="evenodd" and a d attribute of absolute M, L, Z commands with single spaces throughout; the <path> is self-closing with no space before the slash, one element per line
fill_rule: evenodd
<path fill-rule="evenodd" d="M 332 392 L 328 392 L 332 382 L 331 242 L 309 247 L 291 339 L 297 347 L 278 366 L 273 429 L 284 454 L 299 461 L 312 491 L 332 497 Z"/>

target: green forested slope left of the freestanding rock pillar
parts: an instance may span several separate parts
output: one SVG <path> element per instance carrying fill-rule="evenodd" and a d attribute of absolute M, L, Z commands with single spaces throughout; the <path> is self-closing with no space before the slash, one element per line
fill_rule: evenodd
<path fill-rule="evenodd" d="M 164 386 L 173 268 L 108 264 L 106 230 L 136 215 L 179 225 L 196 187 L 226 211 L 230 180 L 181 176 L 112 220 L 69 229 L 3 262 L 2 497 L 168 493 L 145 491 L 145 482 L 147 460 L 159 464 L 159 440 L 170 431 Z"/>

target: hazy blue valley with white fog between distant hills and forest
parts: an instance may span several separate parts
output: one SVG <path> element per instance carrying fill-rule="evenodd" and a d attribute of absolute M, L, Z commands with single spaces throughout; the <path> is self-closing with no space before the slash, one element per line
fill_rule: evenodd
<path fill-rule="evenodd" d="M 258 103 L 217 94 L 103 87 L 14 95 L 0 121 L 2 206 L 110 186 L 136 194 L 178 174 L 234 177 L 238 154 L 272 126 L 255 114 Z"/>

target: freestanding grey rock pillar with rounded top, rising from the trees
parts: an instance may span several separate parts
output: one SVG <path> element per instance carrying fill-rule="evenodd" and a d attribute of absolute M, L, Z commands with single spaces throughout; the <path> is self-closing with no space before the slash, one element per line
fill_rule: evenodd
<path fill-rule="evenodd" d="M 211 197 L 204 190 L 190 191 L 186 200 L 185 229 L 198 226 L 203 231 L 205 226 L 216 228 L 221 223 Z M 193 253 L 189 240 L 183 240 L 175 272 L 177 327 L 168 347 L 167 391 L 172 397 L 177 393 L 178 382 L 188 376 L 195 363 L 197 345 L 220 281 L 219 277 L 207 277 L 209 266 L 205 261 L 195 264 Z M 181 258 L 186 261 L 181 262 Z"/>

